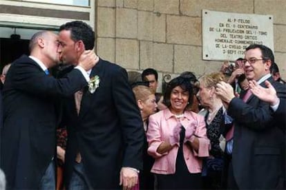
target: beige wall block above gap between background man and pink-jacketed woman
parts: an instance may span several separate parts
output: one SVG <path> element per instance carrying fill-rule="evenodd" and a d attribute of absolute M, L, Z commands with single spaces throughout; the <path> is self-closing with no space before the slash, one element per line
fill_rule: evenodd
<path fill-rule="evenodd" d="M 173 45 L 153 43 L 153 65 L 160 72 L 173 72 Z"/>

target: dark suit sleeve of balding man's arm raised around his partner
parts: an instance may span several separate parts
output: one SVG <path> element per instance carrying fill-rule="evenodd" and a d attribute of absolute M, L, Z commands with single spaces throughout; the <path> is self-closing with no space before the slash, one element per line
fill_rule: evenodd
<path fill-rule="evenodd" d="M 10 67 L 12 86 L 37 96 L 70 96 L 87 85 L 79 70 L 72 70 L 64 78 L 47 76 L 31 63 L 17 63 Z"/>

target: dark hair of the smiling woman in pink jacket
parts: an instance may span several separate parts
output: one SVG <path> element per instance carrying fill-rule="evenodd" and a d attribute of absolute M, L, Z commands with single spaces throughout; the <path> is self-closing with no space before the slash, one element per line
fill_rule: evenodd
<path fill-rule="evenodd" d="M 175 87 L 181 87 L 185 92 L 189 92 L 189 100 L 188 100 L 188 105 L 185 107 L 185 109 L 191 107 L 193 104 L 193 87 L 190 83 L 189 78 L 184 78 L 182 76 L 178 76 L 176 78 L 173 78 L 167 85 L 166 85 L 166 90 L 164 93 L 164 100 L 163 103 L 166 105 L 166 107 L 171 106 L 171 92 Z"/>

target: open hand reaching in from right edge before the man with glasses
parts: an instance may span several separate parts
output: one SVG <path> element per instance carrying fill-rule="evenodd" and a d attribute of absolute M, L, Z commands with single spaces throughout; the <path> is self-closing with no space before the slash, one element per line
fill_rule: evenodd
<path fill-rule="evenodd" d="M 269 83 L 269 81 L 265 81 L 265 85 L 267 88 L 258 85 L 256 81 L 249 81 L 249 87 L 255 96 L 257 96 L 261 101 L 265 101 L 270 103 L 270 105 L 276 105 L 279 101 L 279 98 L 276 95 L 275 88 Z"/>

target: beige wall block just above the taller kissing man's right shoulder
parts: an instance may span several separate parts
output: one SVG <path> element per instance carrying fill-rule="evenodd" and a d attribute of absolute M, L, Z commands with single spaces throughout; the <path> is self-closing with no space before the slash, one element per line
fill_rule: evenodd
<path fill-rule="evenodd" d="M 137 40 L 116 39 L 116 63 L 126 69 L 139 69 L 139 44 Z"/>

